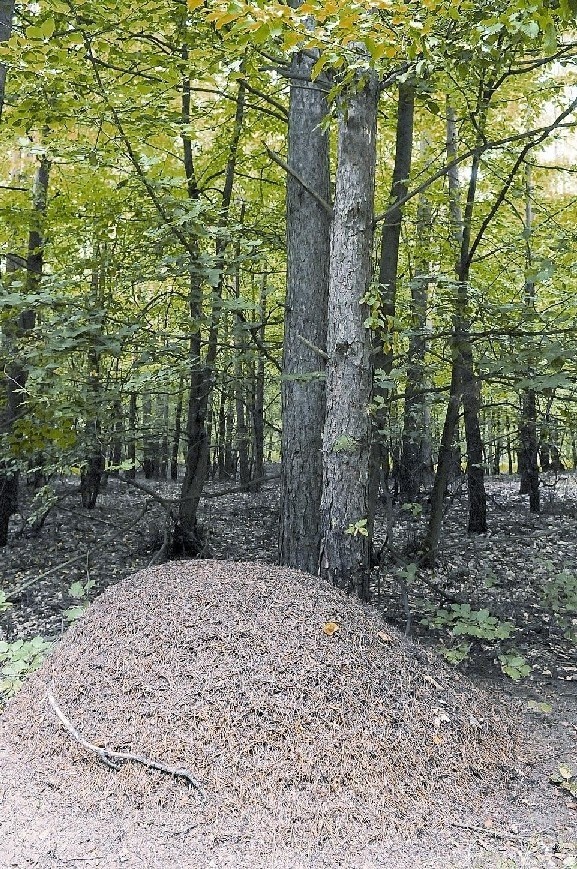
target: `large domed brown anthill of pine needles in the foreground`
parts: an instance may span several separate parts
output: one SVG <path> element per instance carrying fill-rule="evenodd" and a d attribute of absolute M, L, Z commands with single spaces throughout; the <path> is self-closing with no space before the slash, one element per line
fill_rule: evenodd
<path fill-rule="evenodd" d="M 49 688 L 87 740 L 185 767 L 203 793 L 103 765 Z M 129 805 L 204 842 L 306 854 L 474 809 L 515 762 L 514 716 L 493 702 L 320 579 L 176 562 L 90 606 L 8 704 L 0 742 L 81 810 Z"/>

